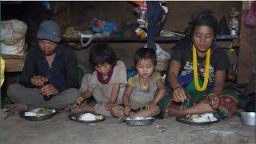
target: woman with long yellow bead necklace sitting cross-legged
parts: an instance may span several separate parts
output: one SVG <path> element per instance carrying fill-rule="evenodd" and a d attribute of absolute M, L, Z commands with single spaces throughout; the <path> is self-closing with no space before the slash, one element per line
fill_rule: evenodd
<path fill-rule="evenodd" d="M 238 96 L 223 90 L 230 62 L 226 51 L 214 44 L 218 22 L 210 13 L 206 10 L 194 21 L 192 41 L 180 44 L 172 54 L 167 75 L 172 98 L 166 115 L 217 112 L 223 119 L 237 110 Z"/>

